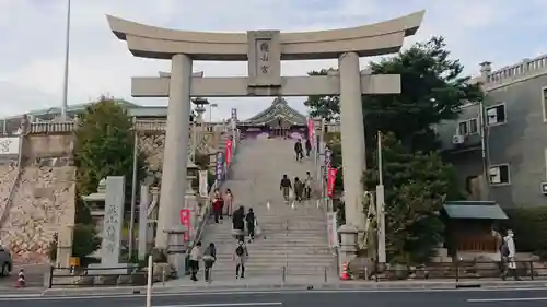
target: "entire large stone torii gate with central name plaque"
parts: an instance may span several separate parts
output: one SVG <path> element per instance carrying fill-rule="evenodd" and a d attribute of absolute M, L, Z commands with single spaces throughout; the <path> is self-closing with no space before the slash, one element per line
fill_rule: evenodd
<path fill-rule="evenodd" d="M 361 74 L 360 57 L 397 52 L 414 35 L 423 11 L 372 25 L 303 33 L 188 32 L 160 28 L 107 16 L 112 31 L 136 57 L 171 60 L 170 74 L 132 78 L 135 97 L 168 97 L 156 247 L 184 209 L 190 97 L 340 96 L 344 190 L 347 224 L 364 228 L 362 172 L 365 168 L 361 95 L 400 93 L 396 74 Z M 338 59 L 338 72 L 321 76 L 281 76 L 282 60 Z M 248 61 L 248 76 L 193 75 L 193 61 Z"/>

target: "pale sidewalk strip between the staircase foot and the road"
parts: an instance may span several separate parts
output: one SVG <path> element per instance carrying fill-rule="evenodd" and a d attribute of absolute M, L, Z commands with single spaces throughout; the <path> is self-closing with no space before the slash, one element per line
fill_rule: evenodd
<path fill-rule="evenodd" d="M 430 281 L 336 281 L 331 283 L 290 281 L 286 283 L 271 283 L 271 280 L 249 279 L 245 281 L 222 281 L 207 284 L 179 283 L 154 284 L 154 293 L 207 293 L 207 292 L 260 292 L 260 291 L 411 291 L 411 290 L 454 290 L 457 287 L 481 288 L 531 288 L 546 287 L 547 281 L 500 281 L 500 280 L 430 280 Z M 44 296 L 73 296 L 73 295 L 127 295 L 146 293 L 144 286 L 138 287 L 88 287 L 88 288 L 51 288 L 44 291 Z"/>

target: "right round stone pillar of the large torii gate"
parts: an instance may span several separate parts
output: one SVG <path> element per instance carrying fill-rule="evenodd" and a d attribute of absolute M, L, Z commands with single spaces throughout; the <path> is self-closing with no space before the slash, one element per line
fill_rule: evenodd
<path fill-rule="evenodd" d="M 365 169 L 365 152 L 359 55 L 342 54 L 338 63 L 346 224 L 361 231 L 364 229 L 362 175 Z"/>

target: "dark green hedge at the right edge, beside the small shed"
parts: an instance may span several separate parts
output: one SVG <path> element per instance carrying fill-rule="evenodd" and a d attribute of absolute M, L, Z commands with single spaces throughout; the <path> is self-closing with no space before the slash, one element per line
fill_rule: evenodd
<path fill-rule="evenodd" d="M 547 208 L 505 209 L 505 227 L 515 234 L 517 251 L 547 256 Z"/>

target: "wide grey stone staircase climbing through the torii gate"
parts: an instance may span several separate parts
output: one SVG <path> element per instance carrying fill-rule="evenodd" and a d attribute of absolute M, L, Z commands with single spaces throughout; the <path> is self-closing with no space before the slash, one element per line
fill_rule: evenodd
<path fill-rule="evenodd" d="M 247 279 L 264 278 L 276 282 L 284 279 L 331 278 L 336 260 L 328 248 L 324 210 L 312 200 L 303 204 L 286 204 L 279 191 L 283 174 L 291 179 L 313 174 L 313 162 L 295 162 L 293 141 L 277 139 L 242 140 L 237 162 L 231 180 L 222 189 L 234 193 L 234 209 L 253 208 L 263 229 L 254 243 L 248 244 Z M 267 203 L 269 202 L 269 208 Z M 217 246 L 218 261 L 213 279 L 235 280 L 233 253 L 236 241 L 232 237 L 231 219 L 223 223 L 212 221 L 206 226 L 202 243 Z"/>

